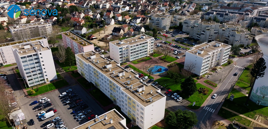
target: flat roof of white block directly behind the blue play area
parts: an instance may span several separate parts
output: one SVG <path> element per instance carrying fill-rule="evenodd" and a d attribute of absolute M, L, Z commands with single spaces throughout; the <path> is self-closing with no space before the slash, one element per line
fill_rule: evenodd
<path fill-rule="evenodd" d="M 144 38 L 141 38 L 141 37 Z M 116 40 L 116 41 L 111 41 L 110 43 L 115 44 L 116 46 L 125 46 L 125 45 L 133 45 L 136 43 L 141 43 L 144 42 L 145 40 L 151 39 L 153 37 L 148 36 L 148 35 L 137 35 L 133 38 L 127 38 L 127 39 L 123 39 L 123 40 Z"/>

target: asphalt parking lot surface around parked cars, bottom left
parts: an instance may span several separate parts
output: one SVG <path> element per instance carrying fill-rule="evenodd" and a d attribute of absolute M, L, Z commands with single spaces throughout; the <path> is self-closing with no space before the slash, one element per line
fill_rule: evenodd
<path fill-rule="evenodd" d="M 73 110 L 78 109 L 78 107 L 70 109 L 69 108 L 70 105 L 62 102 L 62 100 L 59 97 L 59 95 L 61 93 L 66 92 L 66 90 L 68 90 L 70 88 L 72 89 L 72 91 L 74 93 L 78 94 L 78 96 L 74 97 L 74 98 L 77 98 L 77 99 L 80 98 L 83 102 L 85 102 L 85 105 L 88 105 L 88 108 L 83 109 L 82 112 L 88 111 L 88 110 L 92 111 L 91 114 L 85 115 L 86 119 L 83 119 L 82 121 L 78 121 L 77 119 L 75 119 L 74 114 L 71 113 Z M 50 99 L 52 106 L 47 107 L 47 108 L 42 109 L 42 110 L 38 110 L 38 109 L 33 110 L 33 108 L 35 106 L 40 105 L 41 103 L 38 103 L 35 105 L 30 105 L 31 102 L 33 102 L 35 100 L 39 101 L 40 99 L 42 99 L 44 97 L 47 97 L 48 99 Z M 45 127 L 42 127 L 42 124 L 49 121 L 49 120 L 52 120 L 58 116 L 60 117 L 60 119 L 62 119 L 66 128 L 71 129 L 71 128 L 75 128 L 75 127 L 87 122 L 88 116 L 91 116 L 92 114 L 101 115 L 101 114 L 105 113 L 105 111 L 78 85 L 69 86 L 67 88 L 62 88 L 62 89 L 47 93 L 43 96 L 39 96 L 37 98 L 30 99 L 30 98 L 22 97 L 22 98 L 19 98 L 18 100 L 20 101 L 21 108 L 25 114 L 25 118 L 28 121 L 28 125 L 29 125 L 30 129 L 31 128 L 32 129 L 33 128 L 44 128 L 45 129 Z M 74 104 L 74 102 L 71 102 L 71 104 Z M 57 110 L 57 112 L 54 113 L 55 115 L 52 116 L 52 118 L 46 119 L 44 121 L 42 121 L 41 119 L 38 119 L 37 114 L 41 111 L 47 111 L 49 108 L 54 108 Z M 30 119 L 33 119 L 35 121 L 34 125 L 30 124 L 30 121 L 29 121 Z"/>

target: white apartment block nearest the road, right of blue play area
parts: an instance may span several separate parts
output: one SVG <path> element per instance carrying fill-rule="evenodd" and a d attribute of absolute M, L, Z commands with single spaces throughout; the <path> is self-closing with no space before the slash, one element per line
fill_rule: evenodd
<path fill-rule="evenodd" d="M 230 50 L 230 45 L 217 41 L 194 46 L 186 52 L 184 69 L 195 66 L 191 72 L 199 76 L 205 74 L 211 67 L 226 63 Z"/>

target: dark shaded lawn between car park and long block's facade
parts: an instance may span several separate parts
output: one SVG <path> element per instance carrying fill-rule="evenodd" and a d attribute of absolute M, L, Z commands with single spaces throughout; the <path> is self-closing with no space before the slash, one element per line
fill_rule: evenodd
<path fill-rule="evenodd" d="M 104 94 L 102 93 L 102 91 L 100 91 L 99 89 L 94 89 L 93 91 L 89 92 L 96 100 L 99 101 L 99 103 L 102 106 L 108 106 L 110 104 L 112 104 L 113 102 Z"/>

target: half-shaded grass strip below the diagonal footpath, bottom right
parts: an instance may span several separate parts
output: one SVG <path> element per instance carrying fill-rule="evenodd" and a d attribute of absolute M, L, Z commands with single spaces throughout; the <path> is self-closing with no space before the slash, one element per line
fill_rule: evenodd
<path fill-rule="evenodd" d="M 219 116 L 222 116 L 223 118 L 226 118 L 226 119 L 228 119 L 230 121 L 234 121 L 235 120 L 235 121 L 237 121 L 237 122 L 239 122 L 239 123 L 241 123 L 243 125 L 246 125 L 246 126 L 250 126 L 250 123 L 251 123 L 250 120 L 248 120 L 246 118 L 243 118 L 241 116 L 238 116 L 238 115 L 236 115 L 236 114 L 234 114 L 234 113 L 232 113 L 230 111 L 227 111 L 227 110 L 225 110 L 223 108 L 221 108 L 219 110 L 218 115 Z"/>

